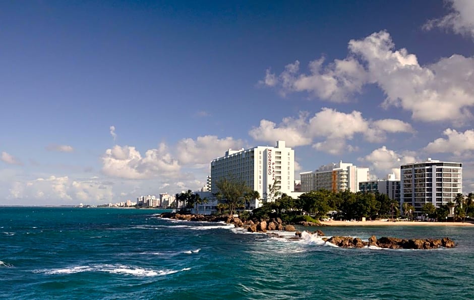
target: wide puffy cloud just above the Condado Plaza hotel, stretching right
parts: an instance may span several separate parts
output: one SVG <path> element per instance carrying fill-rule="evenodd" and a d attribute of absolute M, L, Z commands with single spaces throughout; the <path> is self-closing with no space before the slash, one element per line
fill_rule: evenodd
<path fill-rule="evenodd" d="M 379 143 L 386 139 L 388 133 L 414 133 L 414 130 L 408 123 L 397 119 L 372 121 L 357 110 L 344 113 L 324 107 L 313 117 L 301 112 L 297 118 L 283 118 L 279 125 L 263 119 L 260 126 L 253 128 L 249 135 L 256 141 L 285 140 L 290 147 L 314 143 L 314 149 L 339 154 L 358 150 L 347 144 L 355 135 L 362 136 L 368 142 Z M 323 140 L 318 141 L 320 139 Z"/>

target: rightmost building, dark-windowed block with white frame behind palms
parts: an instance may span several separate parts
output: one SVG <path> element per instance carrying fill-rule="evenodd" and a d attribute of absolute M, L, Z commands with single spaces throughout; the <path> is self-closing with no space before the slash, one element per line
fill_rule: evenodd
<path fill-rule="evenodd" d="M 410 203 L 421 213 L 425 204 L 436 207 L 454 202 L 462 193 L 462 164 L 432 160 L 400 166 L 400 204 Z"/>

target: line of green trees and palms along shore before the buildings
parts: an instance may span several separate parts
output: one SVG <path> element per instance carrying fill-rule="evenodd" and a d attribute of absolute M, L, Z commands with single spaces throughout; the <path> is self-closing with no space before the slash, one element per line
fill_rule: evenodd
<path fill-rule="evenodd" d="M 245 210 L 249 207 L 250 201 L 260 199 L 257 191 L 248 187 L 244 181 L 236 179 L 223 178 L 216 183 L 217 193 L 214 196 L 218 200 L 217 210 L 219 213 L 227 211 L 235 214 L 238 210 Z M 314 218 L 324 218 L 329 212 L 335 219 L 342 220 L 360 220 L 376 218 L 394 219 L 400 216 L 401 210 L 403 215 L 409 219 L 413 219 L 415 208 L 411 203 L 405 202 L 400 207 L 397 200 L 390 199 L 388 195 L 376 192 L 353 193 L 350 191 L 332 192 L 328 190 L 311 191 L 300 195 L 297 199 L 281 194 L 278 189 L 278 182 L 275 181 L 269 185 L 267 203 L 262 207 L 254 209 L 255 217 L 264 217 L 269 214 L 276 214 L 282 218 L 291 217 L 296 214 L 308 214 Z M 176 201 L 184 203 L 184 208 L 196 208 L 198 205 L 208 203 L 208 199 L 201 199 L 199 194 L 193 193 L 191 190 L 176 194 Z M 474 195 L 469 193 L 464 196 L 458 194 L 455 202 L 450 202 L 440 207 L 435 207 L 431 203 L 425 204 L 421 208 L 421 212 L 425 217 L 431 219 L 444 220 L 450 214 L 450 209 L 454 210 L 454 219 L 464 220 L 466 216 L 474 216 Z M 196 213 L 199 213 L 198 210 Z"/>

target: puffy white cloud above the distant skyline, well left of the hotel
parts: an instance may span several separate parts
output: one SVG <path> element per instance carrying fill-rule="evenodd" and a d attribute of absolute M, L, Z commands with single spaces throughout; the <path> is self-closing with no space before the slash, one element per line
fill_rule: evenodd
<path fill-rule="evenodd" d="M 102 171 L 114 177 L 144 179 L 157 176 L 176 176 L 180 170 L 177 160 L 167 152 L 161 143 L 157 149 L 149 149 L 142 157 L 132 146 L 115 145 L 105 151 L 102 157 Z"/>

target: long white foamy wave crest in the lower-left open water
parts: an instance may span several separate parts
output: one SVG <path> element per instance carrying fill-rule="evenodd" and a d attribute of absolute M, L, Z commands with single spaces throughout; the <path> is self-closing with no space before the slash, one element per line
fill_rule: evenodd
<path fill-rule="evenodd" d="M 183 268 L 181 270 L 150 270 L 139 267 L 125 266 L 125 265 L 92 265 L 92 266 L 74 266 L 69 268 L 61 269 L 50 269 L 50 270 L 37 270 L 35 273 L 43 273 L 47 275 L 58 275 L 58 274 L 74 274 L 81 272 L 105 272 L 110 274 L 128 274 L 134 276 L 163 276 L 173 274 L 181 271 L 188 271 L 191 268 Z"/>

